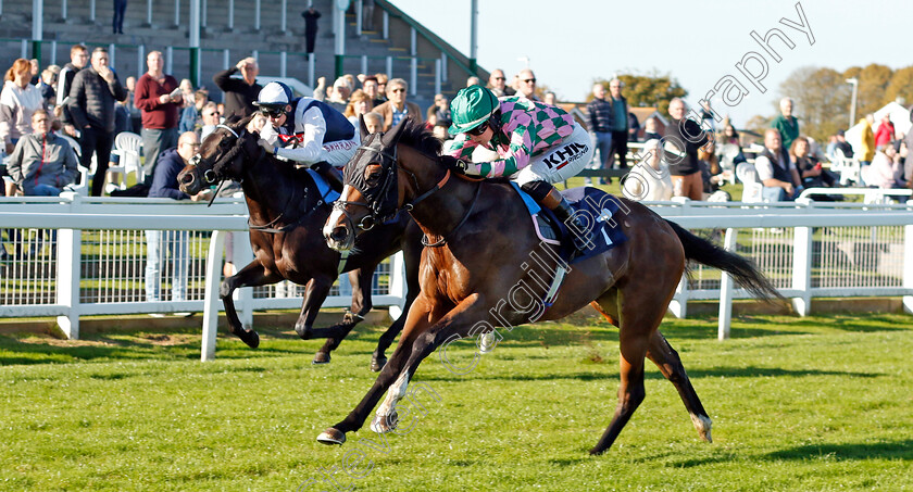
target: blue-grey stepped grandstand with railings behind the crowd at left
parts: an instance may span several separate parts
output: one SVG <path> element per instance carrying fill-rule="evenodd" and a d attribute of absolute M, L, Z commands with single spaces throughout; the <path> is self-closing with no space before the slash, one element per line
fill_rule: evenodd
<path fill-rule="evenodd" d="M 471 75 L 483 80 L 488 72 L 471 70 L 471 60 L 391 2 L 378 0 L 375 30 L 362 29 L 355 13 L 345 14 L 345 55 L 335 55 L 333 0 L 313 0 L 321 12 L 313 67 L 304 53 L 307 2 L 280 0 L 199 0 L 199 50 L 193 53 L 190 0 L 129 2 L 123 35 L 112 34 L 111 2 L 96 0 L 4 0 L 0 2 L 0 66 L 17 58 L 39 58 L 41 66 L 70 61 L 70 47 L 82 42 L 109 48 L 112 66 L 122 79 L 146 71 L 145 54 L 165 53 L 165 72 L 198 80 L 216 100 L 212 75 L 254 54 L 261 75 L 293 77 L 313 87 L 316 77 L 328 84 L 341 73 L 385 73 L 410 83 L 411 99 L 429 105 L 436 92 L 453 96 Z M 361 11 L 361 0 L 350 2 Z M 40 34 L 35 15 L 41 14 Z M 199 59 L 197 73 L 191 70 Z M 341 66 L 337 64 L 341 62 Z"/>

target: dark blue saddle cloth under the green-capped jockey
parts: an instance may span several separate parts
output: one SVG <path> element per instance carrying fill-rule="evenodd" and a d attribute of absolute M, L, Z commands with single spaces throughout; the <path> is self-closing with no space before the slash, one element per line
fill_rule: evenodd
<path fill-rule="evenodd" d="M 529 197 L 516 184 L 511 181 L 511 185 L 520 193 L 523 203 L 529 211 L 534 228 L 539 238 L 552 244 L 560 244 L 559 254 L 562 258 L 566 260 L 571 257 L 576 250 L 571 240 L 571 231 L 567 226 L 561 223 L 552 211 L 539 206 L 533 200 L 533 197 Z M 571 264 L 602 254 L 627 241 L 627 237 L 622 231 L 618 223 L 613 218 L 621 210 L 618 206 L 621 202 L 617 198 L 590 187 L 564 190 L 561 194 L 564 195 L 574 209 L 575 215 L 580 216 L 584 224 L 593 232 L 591 248 L 588 248 L 583 255 L 574 256 L 571 260 Z"/>

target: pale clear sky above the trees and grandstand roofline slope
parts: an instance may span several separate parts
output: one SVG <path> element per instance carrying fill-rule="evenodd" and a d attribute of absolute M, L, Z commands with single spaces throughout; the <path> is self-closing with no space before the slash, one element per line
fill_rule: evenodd
<path fill-rule="evenodd" d="M 470 53 L 470 0 L 392 0 L 465 54 Z M 913 65 L 910 22 L 913 1 L 896 0 L 478 0 L 477 60 L 481 67 L 504 70 L 508 78 L 529 59 L 539 83 L 562 101 L 583 101 L 593 80 L 615 74 L 668 73 L 688 90 L 695 105 L 727 75 L 745 90 L 729 89 L 710 101 L 737 127 L 751 116 L 773 115 L 783 94 L 779 84 L 803 66 L 843 71 L 879 63 Z M 801 28 L 800 5 L 809 35 Z M 764 38 L 778 28 L 793 45 L 770 39 L 774 60 L 751 33 Z M 755 74 L 758 86 L 737 64 Z M 764 63 L 758 59 L 764 60 Z M 766 75 L 761 76 L 766 65 Z M 760 87 L 759 87 L 760 86 Z M 733 84 L 729 87 L 738 87 Z M 762 90 L 763 88 L 763 90 Z M 726 88 L 723 87 L 725 90 Z M 737 92 L 747 94 L 737 103 Z M 908 103 L 913 101 L 908 101 Z M 847 101 L 849 105 L 849 101 Z M 797 108 L 801 117 L 801 108 Z"/>

